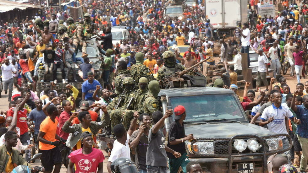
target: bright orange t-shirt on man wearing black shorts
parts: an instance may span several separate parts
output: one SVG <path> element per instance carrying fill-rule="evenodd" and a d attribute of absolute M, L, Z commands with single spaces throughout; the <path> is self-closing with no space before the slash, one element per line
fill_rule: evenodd
<path fill-rule="evenodd" d="M 40 126 L 40 131 L 44 132 L 45 135 L 43 136 L 44 139 L 47 141 L 54 142 L 56 141 L 56 131 L 57 131 L 57 124 L 58 121 L 55 119 L 55 122 L 52 122 L 49 116 L 45 118 L 44 121 L 42 121 L 41 126 Z M 41 141 L 39 142 L 39 149 L 41 150 L 49 150 L 53 149 L 56 146 L 47 144 L 47 143 L 42 143 Z"/>

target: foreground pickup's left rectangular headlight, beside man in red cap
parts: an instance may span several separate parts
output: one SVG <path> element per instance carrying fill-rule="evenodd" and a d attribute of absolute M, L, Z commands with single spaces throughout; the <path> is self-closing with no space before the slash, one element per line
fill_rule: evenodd
<path fill-rule="evenodd" d="M 191 150 L 191 143 L 186 143 L 187 149 L 191 154 L 194 154 Z M 214 154 L 214 144 L 212 142 L 196 142 L 193 144 L 193 150 L 199 154 Z"/>

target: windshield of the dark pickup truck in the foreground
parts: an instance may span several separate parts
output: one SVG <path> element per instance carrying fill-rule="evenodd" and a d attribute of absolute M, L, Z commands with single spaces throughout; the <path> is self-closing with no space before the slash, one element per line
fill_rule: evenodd
<path fill-rule="evenodd" d="M 185 122 L 211 119 L 246 120 L 237 98 L 231 94 L 170 97 L 169 103 L 173 109 L 177 105 L 185 107 Z"/>

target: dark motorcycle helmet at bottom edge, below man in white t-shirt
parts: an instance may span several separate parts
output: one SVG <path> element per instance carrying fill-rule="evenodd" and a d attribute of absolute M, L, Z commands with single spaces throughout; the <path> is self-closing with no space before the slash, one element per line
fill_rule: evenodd
<path fill-rule="evenodd" d="M 129 158 L 121 157 L 115 159 L 110 166 L 112 173 L 138 173 L 138 169 Z"/>

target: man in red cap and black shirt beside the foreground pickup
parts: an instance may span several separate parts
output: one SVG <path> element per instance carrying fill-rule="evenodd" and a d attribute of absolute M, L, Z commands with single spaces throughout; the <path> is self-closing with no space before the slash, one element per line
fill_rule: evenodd
<path fill-rule="evenodd" d="M 170 173 L 176 173 L 179 167 L 186 172 L 186 165 L 189 163 L 187 157 L 185 143 L 184 141 L 189 141 L 194 139 L 193 134 L 185 135 L 184 120 L 186 118 L 186 109 L 182 105 L 178 105 L 174 108 L 174 119 L 175 121 L 171 123 L 169 127 L 169 141 L 167 146 L 176 152 L 181 153 L 180 158 L 176 158 L 173 154 L 167 153 L 169 158 L 169 170 Z"/>

